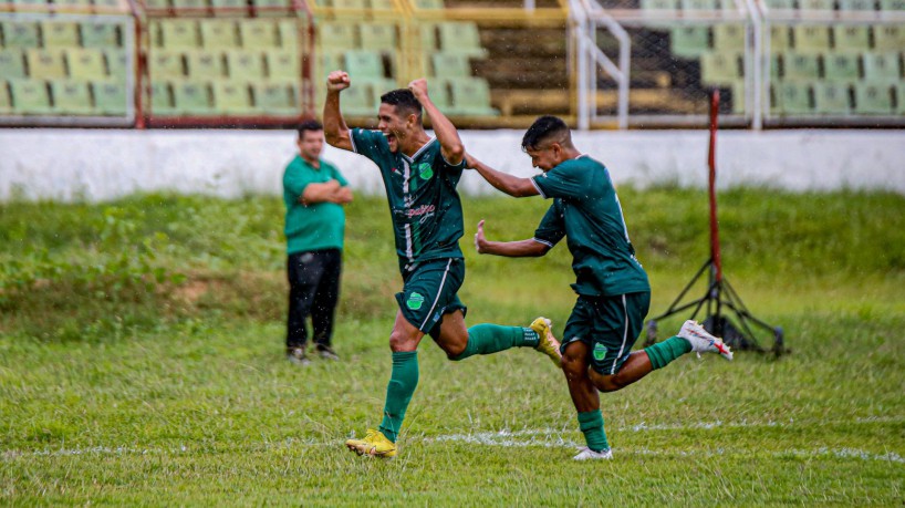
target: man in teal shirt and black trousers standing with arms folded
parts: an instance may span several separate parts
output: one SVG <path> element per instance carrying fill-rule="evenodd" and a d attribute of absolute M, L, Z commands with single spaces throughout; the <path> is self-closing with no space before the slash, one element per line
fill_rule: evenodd
<path fill-rule="evenodd" d="M 343 205 L 352 200 L 349 183 L 332 164 L 321 159 L 323 126 L 306 121 L 299 126 L 299 155 L 283 174 L 285 203 L 289 312 L 287 357 L 308 365 L 305 319 L 311 317 L 318 354 L 339 360 L 333 351 L 333 317 L 340 299 Z"/>

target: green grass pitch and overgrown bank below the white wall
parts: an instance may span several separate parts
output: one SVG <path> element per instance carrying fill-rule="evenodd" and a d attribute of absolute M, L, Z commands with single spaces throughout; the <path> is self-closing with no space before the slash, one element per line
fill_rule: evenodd
<path fill-rule="evenodd" d="M 708 256 L 706 194 L 620 196 L 656 314 Z M 429 341 L 399 456 L 344 448 L 379 423 L 389 376 L 399 278 L 382 199 L 349 208 L 343 361 L 306 369 L 283 356 L 278 199 L 0 205 L 0 504 L 902 506 L 905 198 L 720 200 L 727 277 L 793 351 L 687 355 L 603 395 L 615 458 L 594 464 L 570 460 L 583 438 L 547 359 L 452 363 Z M 561 332 L 564 245 L 530 260 L 470 249 L 479 219 L 528 238 L 547 204 L 464 201 L 468 322 L 545 314 Z"/>

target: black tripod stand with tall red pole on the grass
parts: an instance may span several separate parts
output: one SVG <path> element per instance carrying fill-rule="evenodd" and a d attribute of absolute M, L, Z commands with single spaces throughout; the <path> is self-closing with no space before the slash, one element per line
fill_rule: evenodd
<path fill-rule="evenodd" d="M 716 194 L 716 139 L 717 139 L 717 112 L 719 106 L 719 91 L 715 90 L 710 95 L 710 151 L 708 155 L 708 165 L 710 166 L 709 176 L 709 194 L 710 194 L 710 259 L 708 259 L 703 267 L 695 273 L 690 282 L 682 290 L 678 298 L 669 305 L 660 315 L 647 321 L 647 341 L 651 345 L 657 341 L 657 321 L 682 312 L 686 309 L 694 308 L 690 319 L 695 319 L 701 309 L 705 309 L 706 319 L 701 324 L 704 328 L 736 350 L 753 350 L 759 352 L 767 352 L 762 348 L 755 335 L 752 325 L 760 329 L 766 329 L 773 335 L 772 352 L 780 356 L 788 353 L 789 350 L 783 345 L 783 332 L 780 326 L 771 326 L 766 322 L 755 318 L 745 307 L 745 303 L 739 298 L 738 293 L 729 284 L 729 281 L 722 276 L 722 265 L 719 257 L 719 225 L 717 222 L 717 194 Z M 686 293 L 691 289 L 698 279 L 707 272 L 707 291 L 697 300 L 680 304 Z M 726 307 L 735 312 L 738 325 L 722 314 L 722 308 Z"/>

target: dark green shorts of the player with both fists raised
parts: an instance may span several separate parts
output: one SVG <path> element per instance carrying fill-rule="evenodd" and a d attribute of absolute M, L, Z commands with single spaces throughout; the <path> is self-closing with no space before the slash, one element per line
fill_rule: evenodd
<path fill-rule="evenodd" d="M 409 323 L 437 339 L 444 314 L 467 308 L 456 294 L 465 281 L 465 260 L 431 259 L 403 269 L 403 290 L 396 293 L 399 310 Z"/>

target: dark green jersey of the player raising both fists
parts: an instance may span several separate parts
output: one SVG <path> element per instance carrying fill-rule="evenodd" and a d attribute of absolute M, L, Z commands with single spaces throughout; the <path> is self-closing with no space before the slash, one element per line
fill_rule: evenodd
<path fill-rule="evenodd" d="M 401 261 L 461 258 L 462 206 L 456 186 L 465 160 L 447 163 L 436 138 L 412 157 L 391 152 L 377 131 L 353 128 L 351 139 L 355 153 L 381 169 Z"/>

